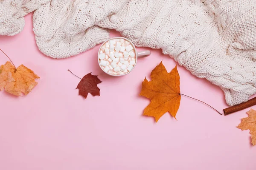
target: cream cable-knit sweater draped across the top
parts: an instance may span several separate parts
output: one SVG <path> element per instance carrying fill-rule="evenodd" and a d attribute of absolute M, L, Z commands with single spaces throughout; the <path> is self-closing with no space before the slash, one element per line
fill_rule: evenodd
<path fill-rule="evenodd" d="M 0 34 L 20 32 L 35 9 L 47 56 L 79 54 L 108 38 L 104 28 L 116 29 L 218 85 L 228 105 L 256 93 L 256 0 L 0 0 Z"/>

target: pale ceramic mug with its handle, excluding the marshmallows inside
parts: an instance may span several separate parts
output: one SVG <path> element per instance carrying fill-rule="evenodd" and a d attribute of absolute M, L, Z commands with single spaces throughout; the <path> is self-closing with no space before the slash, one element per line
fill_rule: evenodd
<path fill-rule="evenodd" d="M 136 64 L 137 64 L 138 58 L 148 57 L 148 56 L 151 54 L 151 52 L 150 52 L 149 50 L 146 50 L 146 51 L 137 51 L 136 48 L 135 48 L 135 46 L 134 46 L 134 44 L 133 44 L 130 40 L 128 40 L 127 38 L 124 38 L 124 37 L 114 37 L 114 38 L 108 39 L 107 41 L 105 41 L 105 42 L 102 43 L 102 45 L 101 45 L 100 48 L 99 48 L 99 52 L 98 52 L 98 63 L 99 63 L 99 67 L 102 69 L 102 71 L 104 71 L 104 70 L 103 70 L 103 68 L 101 67 L 100 62 L 99 62 L 99 54 L 100 54 L 100 51 L 101 51 L 101 49 L 102 49 L 102 46 L 105 45 L 106 42 L 108 42 L 109 40 L 114 40 L 114 39 L 124 39 L 124 40 L 130 42 L 130 44 L 133 46 L 133 48 L 134 48 L 134 53 L 135 53 L 135 57 L 136 57 L 136 61 L 135 61 L 134 67 L 135 67 Z M 131 69 L 131 71 L 133 71 L 134 67 Z M 108 74 L 108 75 L 110 75 L 110 76 L 119 77 L 119 76 L 124 76 L 124 75 L 130 73 L 131 71 L 128 71 L 128 72 L 125 73 L 125 74 L 110 74 L 110 73 L 107 73 L 107 72 L 105 72 L 105 71 L 104 71 L 104 73 L 106 73 L 106 74 Z"/>

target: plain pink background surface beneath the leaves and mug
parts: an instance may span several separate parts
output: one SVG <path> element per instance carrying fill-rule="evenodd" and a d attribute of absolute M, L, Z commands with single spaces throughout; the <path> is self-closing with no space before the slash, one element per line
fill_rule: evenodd
<path fill-rule="evenodd" d="M 256 169 L 249 130 L 236 128 L 250 108 L 220 116 L 182 96 L 177 121 L 166 113 L 155 123 L 142 116 L 150 101 L 139 96 L 141 83 L 161 60 L 171 71 L 173 59 L 151 50 L 130 74 L 110 77 L 98 67 L 99 45 L 68 59 L 46 57 L 35 44 L 32 15 L 25 19 L 22 33 L 0 37 L 0 48 L 15 65 L 31 68 L 41 79 L 28 96 L 0 92 L 0 170 Z M 112 31 L 111 37 L 116 36 Z M 0 64 L 6 61 L 1 53 Z M 80 79 L 67 69 L 79 77 L 99 75 L 101 96 L 79 96 Z M 183 94 L 221 112 L 227 107 L 220 88 L 177 69 Z"/>

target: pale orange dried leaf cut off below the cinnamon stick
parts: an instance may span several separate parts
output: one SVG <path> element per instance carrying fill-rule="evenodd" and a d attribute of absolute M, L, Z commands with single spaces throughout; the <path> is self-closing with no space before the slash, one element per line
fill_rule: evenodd
<path fill-rule="evenodd" d="M 252 144 L 254 146 L 256 145 L 256 111 L 250 109 L 247 114 L 249 116 L 242 119 L 238 128 L 241 130 L 250 130 L 250 134 L 252 135 Z"/>

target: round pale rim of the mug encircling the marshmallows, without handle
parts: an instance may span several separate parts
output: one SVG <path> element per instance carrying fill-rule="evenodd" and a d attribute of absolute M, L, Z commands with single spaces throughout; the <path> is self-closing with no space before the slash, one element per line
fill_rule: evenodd
<path fill-rule="evenodd" d="M 121 38 L 122 38 L 122 39 L 124 39 L 124 40 L 126 40 L 126 41 L 128 41 L 128 42 L 130 42 L 130 43 L 131 43 L 131 45 L 132 45 L 132 46 L 133 46 L 133 48 L 134 48 L 134 52 L 135 52 L 135 56 L 136 56 L 136 62 L 135 62 L 135 64 L 134 64 L 134 67 L 136 66 L 136 64 L 137 64 L 137 60 L 138 60 L 137 50 L 136 50 L 136 48 L 135 48 L 134 43 L 132 43 L 132 42 L 131 42 L 131 40 L 129 40 L 129 39 L 125 38 L 125 37 L 113 37 L 113 38 L 110 38 L 110 39 L 108 39 L 108 40 L 104 41 L 104 42 L 102 43 L 102 45 L 100 46 L 99 51 L 98 51 L 98 56 L 97 56 L 98 64 L 99 64 L 99 67 L 102 69 L 102 71 L 103 71 L 104 73 L 106 73 L 106 74 L 108 74 L 108 75 L 110 75 L 110 76 L 113 76 L 113 77 L 121 77 L 121 76 L 125 76 L 126 74 L 129 74 L 131 71 L 133 71 L 133 70 L 134 70 L 134 67 L 133 67 L 133 68 L 131 69 L 131 71 L 128 71 L 128 72 L 127 72 L 127 73 L 125 73 L 125 74 L 110 74 L 110 73 L 105 72 L 105 71 L 103 70 L 103 68 L 101 67 L 101 65 L 100 65 L 100 62 L 99 62 L 99 52 L 100 52 L 100 50 L 101 50 L 102 46 L 103 46 L 106 42 L 108 42 L 109 40 L 113 40 L 113 39 L 121 39 Z"/>

